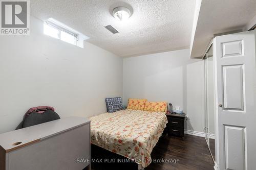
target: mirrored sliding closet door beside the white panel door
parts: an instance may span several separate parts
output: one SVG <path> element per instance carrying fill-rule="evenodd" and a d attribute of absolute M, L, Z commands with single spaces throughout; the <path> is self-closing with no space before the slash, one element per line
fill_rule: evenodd
<path fill-rule="evenodd" d="M 205 139 L 215 160 L 215 111 L 214 111 L 214 61 L 212 45 L 210 45 L 205 59 Z"/>

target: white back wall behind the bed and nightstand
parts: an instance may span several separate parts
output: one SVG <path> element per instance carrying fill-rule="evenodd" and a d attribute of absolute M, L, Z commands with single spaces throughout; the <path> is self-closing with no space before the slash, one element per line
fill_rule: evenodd
<path fill-rule="evenodd" d="M 146 98 L 180 106 L 189 116 L 185 129 L 204 128 L 204 61 L 189 49 L 123 59 L 123 101 Z"/>

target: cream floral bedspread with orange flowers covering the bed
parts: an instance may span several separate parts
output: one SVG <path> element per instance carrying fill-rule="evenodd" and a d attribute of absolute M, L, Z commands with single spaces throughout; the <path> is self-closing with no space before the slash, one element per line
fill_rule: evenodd
<path fill-rule="evenodd" d="M 146 167 L 167 124 L 165 112 L 120 110 L 91 119 L 91 142 Z"/>

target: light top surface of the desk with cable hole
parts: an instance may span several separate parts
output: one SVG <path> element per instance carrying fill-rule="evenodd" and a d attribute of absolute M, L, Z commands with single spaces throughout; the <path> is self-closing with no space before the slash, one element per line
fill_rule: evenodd
<path fill-rule="evenodd" d="M 90 122 L 85 117 L 63 117 L 44 124 L 2 133 L 0 134 L 0 145 L 6 152 L 10 152 L 61 132 L 89 124 Z M 16 142 L 22 143 L 13 145 Z"/>

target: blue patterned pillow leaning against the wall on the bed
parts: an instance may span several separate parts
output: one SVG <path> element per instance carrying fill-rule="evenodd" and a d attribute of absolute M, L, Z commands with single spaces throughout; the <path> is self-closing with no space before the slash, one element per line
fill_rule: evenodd
<path fill-rule="evenodd" d="M 106 98 L 106 111 L 113 113 L 123 109 L 122 98 Z"/>

